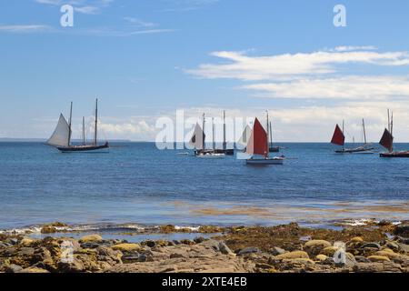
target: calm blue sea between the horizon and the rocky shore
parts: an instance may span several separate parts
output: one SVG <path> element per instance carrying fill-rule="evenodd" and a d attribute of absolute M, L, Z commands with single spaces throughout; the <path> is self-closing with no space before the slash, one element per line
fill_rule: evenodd
<path fill-rule="evenodd" d="M 230 156 L 159 151 L 153 143 L 117 144 L 107 154 L 0 143 L 0 229 L 52 221 L 195 226 L 409 219 L 409 159 L 335 155 L 328 144 L 279 146 L 287 147 L 284 166 L 254 167 Z"/>

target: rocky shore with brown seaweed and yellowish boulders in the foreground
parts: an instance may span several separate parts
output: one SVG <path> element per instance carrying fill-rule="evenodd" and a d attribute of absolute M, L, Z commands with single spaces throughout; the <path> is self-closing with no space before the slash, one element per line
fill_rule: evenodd
<path fill-rule="evenodd" d="M 382 221 L 340 230 L 285 226 L 202 226 L 194 240 L 139 244 L 55 237 L 58 224 L 43 226 L 43 239 L 0 234 L 2 273 L 156 272 L 409 272 L 409 223 Z M 162 233 L 189 232 L 161 226 Z M 204 238 L 201 234 L 213 234 Z M 132 235 L 132 234 L 131 234 Z M 137 236 L 137 234 L 135 234 Z"/>

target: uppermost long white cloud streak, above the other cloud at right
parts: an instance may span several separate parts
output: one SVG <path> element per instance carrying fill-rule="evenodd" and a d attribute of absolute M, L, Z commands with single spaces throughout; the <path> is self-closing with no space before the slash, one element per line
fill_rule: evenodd
<path fill-rule="evenodd" d="M 317 51 L 284 55 L 250 56 L 243 52 L 214 52 L 211 55 L 226 62 L 203 64 L 186 70 L 203 78 L 230 78 L 243 81 L 285 80 L 305 75 L 328 75 L 339 71 L 336 65 L 365 64 L 396 66 L 409 65 L 408 52 L 374 51 Z"/>

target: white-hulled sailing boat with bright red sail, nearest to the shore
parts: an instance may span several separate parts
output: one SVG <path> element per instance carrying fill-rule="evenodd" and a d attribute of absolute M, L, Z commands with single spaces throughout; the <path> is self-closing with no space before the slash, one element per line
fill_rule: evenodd
<path fill-rule="evenodd" d="M 268 127 L 268 114 L 267 114 Z M 252 135 L 247 144 L 245 153 L 252 157 L 245 160 L 247 165 L 283 165 L 284 157 L 269 157 L 268 136 L 263 125 L 260 124 L 257 118 L 254 120 Z M 254 155 L 263 156 L 263 158 L 254 158 Z"/>

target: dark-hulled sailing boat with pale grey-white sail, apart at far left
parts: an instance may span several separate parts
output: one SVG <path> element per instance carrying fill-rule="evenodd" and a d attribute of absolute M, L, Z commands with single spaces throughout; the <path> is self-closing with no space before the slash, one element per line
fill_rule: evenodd
<path fill-rule="evenodd" d="M 72 135 L 72 124 L 73 119 L 73 103 L 71 102 L 70 107 L 70 119 L 69 122 L 66 121 L 63 114 L 60 115 L 58 124 L 55 127 L 53 135 L 48 139 L 47 145 L 55 146 L 59 151 L 63 153 L 70 152 L 88 152 L 101 150 L 109 148 L 108 142 L 105 142 L 104 145 L 98 145 L 97 143 L 97 133 L 98 133 L 98 99 L 95 101 L 95 133 L 94 133 L 94 142 L 91 145 L 86 145 L 85 141 L 85 118 L 83 117 L 83 145 L 74 146 L 71 145 L 71 135 Z"/>

